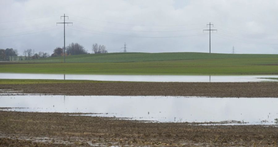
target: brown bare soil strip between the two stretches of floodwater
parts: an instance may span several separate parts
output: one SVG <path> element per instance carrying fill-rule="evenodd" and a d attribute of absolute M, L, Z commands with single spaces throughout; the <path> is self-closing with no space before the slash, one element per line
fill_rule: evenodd
<path fill-rule="evenodd" d="M 2 92 L 61 95 L 278 97 L 278 82 L 99 82 L 0 84 Z M 4 91 L 3 91 L 4 90 Z"/>

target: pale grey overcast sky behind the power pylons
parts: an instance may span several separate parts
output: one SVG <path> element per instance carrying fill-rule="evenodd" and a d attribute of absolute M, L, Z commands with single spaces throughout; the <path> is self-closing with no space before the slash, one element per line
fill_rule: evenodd
<path fill-rule="evenodd" d="M 50 54 L 93 43 L 108 52 L 278 54 L 277 0 L 0 0 L 0 48 Z"/>

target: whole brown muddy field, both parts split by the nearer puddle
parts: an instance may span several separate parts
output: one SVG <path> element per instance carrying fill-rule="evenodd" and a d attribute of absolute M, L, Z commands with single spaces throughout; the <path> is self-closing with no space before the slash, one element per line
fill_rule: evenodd
<path fill-rule="evenodd" d="M 248 88 L 247 88 L 248 87 Z M 1 84 L 1 93 L 278 97 L 278 82 Z M 154 123 L 0 110 L 0 146 L 276 146 L 277 125 Z"/>

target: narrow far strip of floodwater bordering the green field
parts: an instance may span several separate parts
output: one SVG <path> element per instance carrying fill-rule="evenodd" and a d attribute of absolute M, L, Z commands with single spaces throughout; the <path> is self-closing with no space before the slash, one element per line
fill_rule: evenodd
<path fill-rule="evenodd" d="M 261 79 L 278 75 L 236 75 L 236 76 L 183 76 L 183 75 L 83 75 L 83 74 L 29 74 L 0 73 L 0 79 L 54 79 L 54 80 L 96 80 L 96 81 L 146 81 L 146 82 L 255 82 L 277 81 Z"/>

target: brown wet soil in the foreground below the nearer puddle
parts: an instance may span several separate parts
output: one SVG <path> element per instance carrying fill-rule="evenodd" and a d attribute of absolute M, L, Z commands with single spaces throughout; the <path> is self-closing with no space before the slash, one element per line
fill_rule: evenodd
<path fill-rule="evenodd" d="M 277 126 L 205 126 L 0 111 L 0 146 L 275 146 L 277 141 Z"/>

